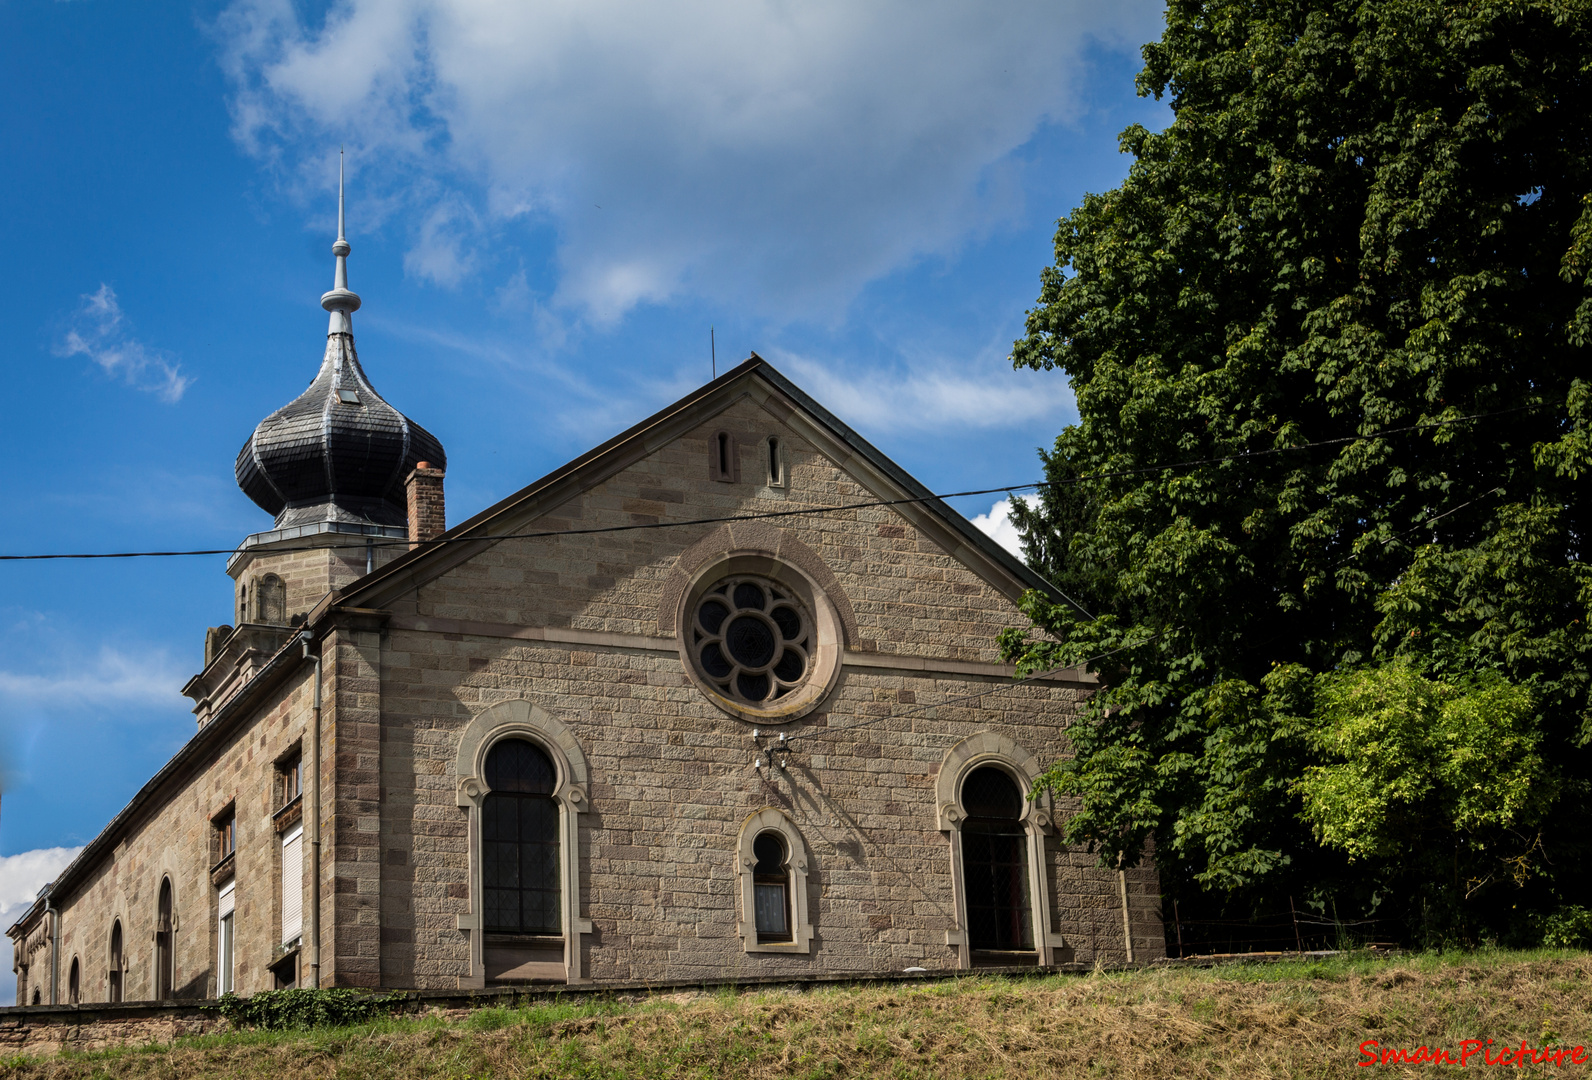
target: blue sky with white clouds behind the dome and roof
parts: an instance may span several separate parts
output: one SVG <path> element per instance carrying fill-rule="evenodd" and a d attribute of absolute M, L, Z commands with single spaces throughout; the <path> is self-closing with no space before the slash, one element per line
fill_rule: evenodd
<path fill-rule="evenodd" d="M 447 446 L 454 521 L 707 381 L 708 327 L 720 370 L 756 349 L 936 491 L 1033 479 L 1071 400 L 1006 355 L 1055 218 L 1167 119 L 1132 83 L 1159 27 L 0 0 L 0 551 L 269 527 L 232 459 L 320 360 L 339 143 L 360 355 Z M 0 564 L 0 855 L 48 875 L 193 733 L 178 688 L 229 597 L 217 556 Z"/>

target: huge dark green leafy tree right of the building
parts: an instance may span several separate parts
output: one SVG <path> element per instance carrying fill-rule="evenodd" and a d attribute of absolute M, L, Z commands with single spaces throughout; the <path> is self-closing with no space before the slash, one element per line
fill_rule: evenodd
<path fill-rule="evenodd" d="M 1493 855 L 1584 889 L 1592 3 L 1173 0 L 1145 61 L 1173 121 L 1060 221 L 1013 354 L 1079 413 L 1014 518 L 1094 618 L 1001 639 L 1105 682 L 1044 777 L 1070 838 L 1337 889 L 1304 792 L 1350 728 L 1299 672 L 1396 661 L 1527 695 L 1554 827 Z"/>

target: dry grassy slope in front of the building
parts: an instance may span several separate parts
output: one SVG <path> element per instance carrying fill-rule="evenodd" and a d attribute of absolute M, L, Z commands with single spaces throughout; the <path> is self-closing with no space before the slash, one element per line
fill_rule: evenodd
<path fill-rule="evenodd" d="M 1433 1075 L 1449 1069 L 1361 1072 L 1358 1047 L 1592 1043 L 1589 976 L 1586 954 L 1476 953 L 586 1000 L 11 1059 L 0 1077 Z M 1481 1058 L 1469 1064 L 1492 1072 Z"/>

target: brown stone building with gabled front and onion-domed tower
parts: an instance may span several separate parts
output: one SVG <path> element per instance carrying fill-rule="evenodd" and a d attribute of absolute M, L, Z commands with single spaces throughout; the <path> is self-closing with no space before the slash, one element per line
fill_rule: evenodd
<path fill-rule="evenodd" d="M 1027 798 L 1094 687 L 997 656 L 1046 581 L 756 355 L 446 529 L 333 253 L 197 731 L 10 929 L 19 1005 L 1162 954 L 1154 868 Z"/>

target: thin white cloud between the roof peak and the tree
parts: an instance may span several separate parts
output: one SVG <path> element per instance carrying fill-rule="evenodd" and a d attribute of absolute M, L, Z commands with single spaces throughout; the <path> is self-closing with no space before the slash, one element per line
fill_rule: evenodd
<path fill-rule="evenodd" d="M 1006 360 L 920 358 L 904 370 L 853 371 L 780 349 L 771 349 L 769 360 L 836 416 L 868 432 L 1009 428 L 1040 421 L 1059 427 L 1073 408 L 1065 379 L 1014 373 Z"/>

